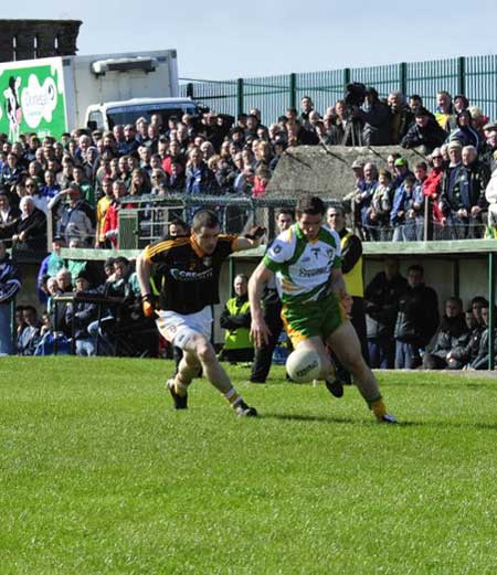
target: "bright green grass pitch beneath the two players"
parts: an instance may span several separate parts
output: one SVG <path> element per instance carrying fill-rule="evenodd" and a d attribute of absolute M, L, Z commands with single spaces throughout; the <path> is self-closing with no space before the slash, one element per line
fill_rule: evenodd
<path fill-rule="evenodd" d="M 150 360 L 2 359 L 0 574 L 495 574 L 497 382 L 380 375 L 355 388 L 230 373 L 190 408 Z"/>

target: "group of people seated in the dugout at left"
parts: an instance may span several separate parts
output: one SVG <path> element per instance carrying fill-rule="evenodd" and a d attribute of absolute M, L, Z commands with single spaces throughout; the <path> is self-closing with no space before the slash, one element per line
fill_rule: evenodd
<path fill-rule="evenodd" d="M 41 320 L 32 305 L 17 306 L 17 353 L 50 355 L 151 355 L 159 352 L 155 324 L 141 311 L 131 263 L 123 257 L 98 264 L 60 257 L 62 238 L 39 273 Z"/>

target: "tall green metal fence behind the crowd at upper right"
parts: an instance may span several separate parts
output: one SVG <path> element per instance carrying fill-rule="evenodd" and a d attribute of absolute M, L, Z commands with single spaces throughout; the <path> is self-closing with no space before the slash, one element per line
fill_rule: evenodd
<path fill-rule="evenodd" d="M 258 108 L 262 121 L 269 125 L 285 114 L 288 106 L 299 107 L 303 96 L 310 96 L 315 109 L 326 108 L 343 96 L 349 82 L 362 82 L 385 97 L 394 89 L 406 96 L 419 94 L 432 111 L 436 93 L 465 94 L 472 105 L 482 108 L 490 119 L 497 118 L 497 56 L 467 56 L 427 62 L 385 64 L 300 74 L 283 74 L 229 81 L 182 78 L 181 95 L 219 113 L 236 116 Z"/>

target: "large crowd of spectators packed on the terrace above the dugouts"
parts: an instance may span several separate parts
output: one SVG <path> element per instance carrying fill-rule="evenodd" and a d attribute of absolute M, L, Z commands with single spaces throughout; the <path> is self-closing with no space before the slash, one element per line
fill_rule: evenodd
<path fill-rule="evenodd" d="M 352 164 L 349 206 L 364 239 L 420 239 L 425 232 L 479 237 L 491 213 L 488 201 L 497 199 L 491 191 L 485 196 L 496 167 L 497 124 L 466 97 L 446 92 L 436 95 L 434 114 L 416 95 L 392 92 L 382 100 L 374 88 L 364 88 L 362 102 L 349 96 L 326 110 L 305 96 L 300 110 L 288 108 L 268 127 L 253 108 L 237 118 L 207 111 L 166 124 L 155 114 L 109 132 L 74 130 L 59 141 L 31 134 L 9 142 L 0 135 L 0 238 L 42 252 L 51 212 L 67 245 L 76 239 L 116 247 L 119 210 L 134 206 L 129 196 L 260 199 L 284 151 L 302 145 L 421 150 L 413 166 L 400 153 L 387 167 Z M 434 235 L 440 228 L 444 234 Z"/>

